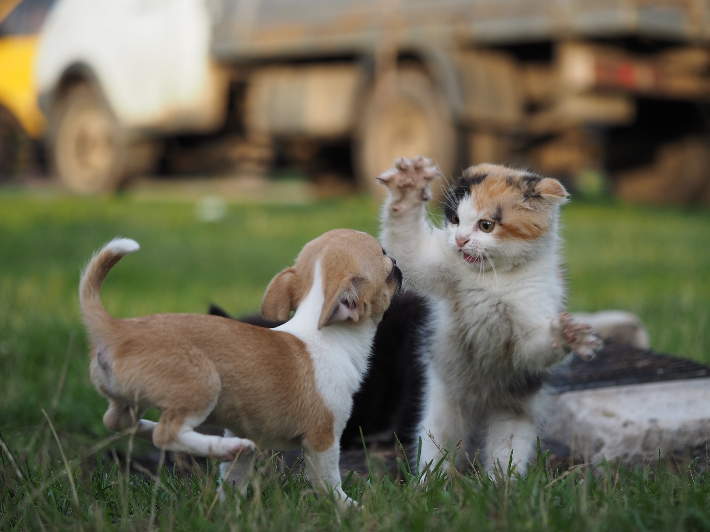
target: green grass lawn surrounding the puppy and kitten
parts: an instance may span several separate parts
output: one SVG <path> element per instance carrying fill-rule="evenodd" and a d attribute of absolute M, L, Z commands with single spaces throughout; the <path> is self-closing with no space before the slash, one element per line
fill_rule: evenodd
<path fill-rule="evenodd" d="M 92 252 L 116 235 L 141 243 L 102 290 L 116 316 L 210 301 L 241 314 L 307 240 L 339 226 L 376 234 L 376 213 L 366 198 L 231 204 L 204 223 L 185 201 L 0 191 L 0 531 L 710 530 L 709 478 L 687 464 L 560 472 L 539 455 L 518 482 L 469 474 L 451 489 L 422 489 L 403 465 L 399 480 L 351 477 L 364 509 L 346 514 L 311 497 L 299 471 L 258 472 L 241 513 L 215 503 L 214 468 L 127 475 L 115 457 L 129 441 L 102 426 L 106 402 L 87 375 L 76 292 Z M 710 363 L 710 211 L 573 202 L 563 231 L 570 309 L 633 311 L 653 348 Z"/>

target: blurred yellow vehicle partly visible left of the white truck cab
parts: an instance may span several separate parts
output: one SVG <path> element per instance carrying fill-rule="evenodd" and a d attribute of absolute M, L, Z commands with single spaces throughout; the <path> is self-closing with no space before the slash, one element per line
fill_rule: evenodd
<path fill-rule="evenodd" d="M 33 165 L 35 143 L 45 131 L 33 70 L 38 33 L 52 4 L 0 0 L 0 178 Z"/>

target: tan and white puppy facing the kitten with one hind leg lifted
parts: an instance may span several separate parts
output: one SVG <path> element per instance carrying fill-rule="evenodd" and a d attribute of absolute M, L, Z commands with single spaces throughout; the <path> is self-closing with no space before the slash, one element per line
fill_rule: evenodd
<path fill-rule="evenodd" d="M 304 450 L 314 484 L 342 501 L 339 440 L 367 369 L 377 325 L 402 274 L 378 241 L 336 229 L 312 240 L 266 289 L 264 329 L 219 316 L 118 319 L 99 299 L 116 262 L 138 250 L 112 240 L 89 262 L 80 303 L 91 379 L 109 399 L 104 424 L 156 447 L 222 460 L 222 482 L 246 492 L 257 447 Z M 141 419 L 160 410 L 160 421 Z M 224 437 L 198 433 L 225 428 Z"/>

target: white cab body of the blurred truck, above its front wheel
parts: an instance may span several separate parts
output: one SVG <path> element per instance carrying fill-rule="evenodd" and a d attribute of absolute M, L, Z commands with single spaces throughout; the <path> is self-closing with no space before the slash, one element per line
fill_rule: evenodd
<path fill-rule="evenodd" d="M 209 57 L 209 32 L 202 0 L 60 0 L 40 36 L 40 94 L 82 64 L 126 128 L 216 128 L 226 76 Z"/>

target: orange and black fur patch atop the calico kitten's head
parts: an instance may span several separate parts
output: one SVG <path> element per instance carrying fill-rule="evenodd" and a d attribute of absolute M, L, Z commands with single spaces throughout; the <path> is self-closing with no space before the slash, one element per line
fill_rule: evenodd
<path fill-rule="evenodd" d="M 567 196 L 557 179 L 501 165 L 476 165 L 449 192 L 444 213 L 457 223 L 460 202 L 471 201 L 479 220 L 495 223 L 491 233 L 496 238 L 537 240 L 550 230 L 555 207 Z"/>

